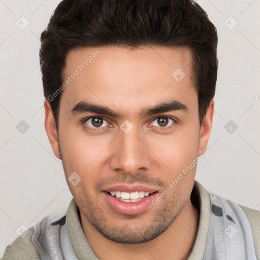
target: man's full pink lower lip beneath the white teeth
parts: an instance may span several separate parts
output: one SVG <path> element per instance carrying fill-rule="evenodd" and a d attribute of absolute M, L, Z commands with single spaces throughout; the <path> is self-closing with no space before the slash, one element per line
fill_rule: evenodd
<path fill-rule="evenodd" d="M 143 213 L 151 205 L 153 199 L 155 199 L 157 192 L 152 193 L 150 196 L 143 198 L 137 202 L 123 202 L 119 201 L 106 191 L 103 192 L 105 200 L 109 206 L 117 213 L 124 215 L 137 215 Z"/>

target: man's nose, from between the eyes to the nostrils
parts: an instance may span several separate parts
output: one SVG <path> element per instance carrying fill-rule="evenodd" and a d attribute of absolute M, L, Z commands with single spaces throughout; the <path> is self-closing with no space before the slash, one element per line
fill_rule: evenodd
<path fill-rule="evenodd" d="M 127 134 L 120 129 L 111 154 L 110 167 L 114 171 L 133 175 L 137 171 L 150 169 L 152 152 L 136 127 Z"/>

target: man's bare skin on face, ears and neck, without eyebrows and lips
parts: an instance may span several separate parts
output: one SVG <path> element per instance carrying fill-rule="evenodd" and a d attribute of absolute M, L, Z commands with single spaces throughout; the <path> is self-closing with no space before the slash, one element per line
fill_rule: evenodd
<path fill-rule="evenodd" d="M 141 214 L 115 212 L 102 191 L 124 182 L 163 192 L 206 151 L 214 101 L 200 125 L 188 48 L 78 48 L 67 56 L 64 77 L 96 49 L 101 53 L 62 91 L 58 135 L 50 103 L 45 101 L 45 127 L 53 152 L 62 159 L 66 178 L 74 172 L 81 177 L 76 186 L 69 181 L 68 185 L 80 209 L 84 234 L 100 259 L 187 259 L 199 224 L 199 212 L 190 201 L 196 167 Z M 186 74 L 180 82 L 172 77 L 177 68 Z M 181 102 L 187 111 L 138 116 L 169 100 Z M 106 106 L 121 117 L 73 114 L 81 101 Z M 83 120 L 89 116 L 103 117 L 104 123 L 94 127 L 91 120 Z M 165 116 L 175 121 L 161 126 L 158 118 Z M 125 120 L 134 127 L 128 134 L 120 129 Z"/>

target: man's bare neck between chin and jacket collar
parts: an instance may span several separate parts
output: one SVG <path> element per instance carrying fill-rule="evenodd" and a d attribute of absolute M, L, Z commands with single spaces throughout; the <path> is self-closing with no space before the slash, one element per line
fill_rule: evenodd
<path fill-rule="evenodd" d="M 184 260 L 188 258 L 197 236 L 199 211 L 188 200 L 163 234 L 142 244 L 116 243 L 103 237 L 84 219 L 81 224 L 93 252 L 100 260 Z"/>

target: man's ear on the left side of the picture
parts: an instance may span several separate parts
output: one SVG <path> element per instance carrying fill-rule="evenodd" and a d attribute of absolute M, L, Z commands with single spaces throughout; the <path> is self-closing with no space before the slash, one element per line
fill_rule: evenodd
<path fill-rule="evenodd" d="M 52 114 L 52 109 L 50 102 L 45 100 L 44 102 L 44 110 L 45 110 L 45 129 L 47 136 L 49 138 L 52 151 L 54 152 L 57 158 L 61 158 L 59 154 L 59 143 L 58 143 L 58 135 L 56 129 L 56 123 Z"/>

